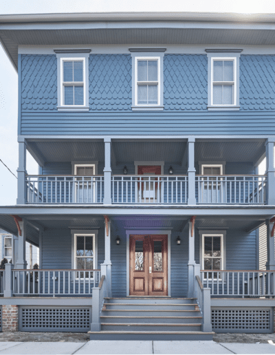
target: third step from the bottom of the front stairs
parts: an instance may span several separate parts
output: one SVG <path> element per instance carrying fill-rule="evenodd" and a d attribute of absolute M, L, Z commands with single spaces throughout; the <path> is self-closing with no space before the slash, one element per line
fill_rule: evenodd
<path fill-rule="evenodd" d="M 102 323 L 201 323 L 202 316 L 100 316 Z"/>

